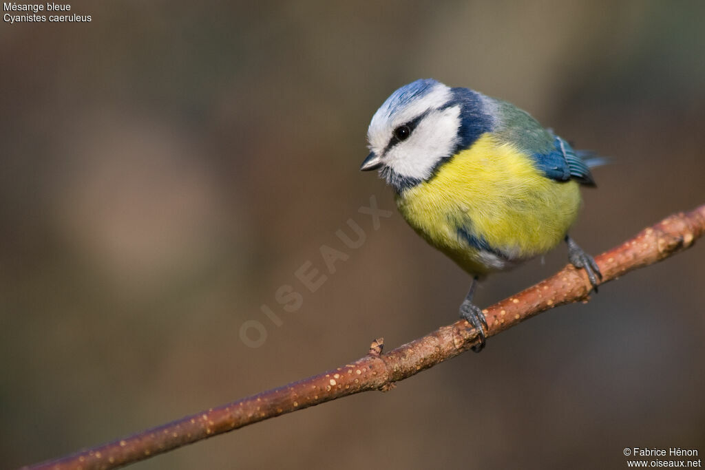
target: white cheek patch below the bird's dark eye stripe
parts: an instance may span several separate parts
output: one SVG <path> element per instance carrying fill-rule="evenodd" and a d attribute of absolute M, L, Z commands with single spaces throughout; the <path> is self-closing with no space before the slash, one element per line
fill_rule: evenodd
<path fill-rule="evenodd" d="M 451 156 L 458 144 L 460 106 L 431 111 L 412 131 L 384 155 L 384 164 L 405 178 L 426 180 L 436 163 Z"/>

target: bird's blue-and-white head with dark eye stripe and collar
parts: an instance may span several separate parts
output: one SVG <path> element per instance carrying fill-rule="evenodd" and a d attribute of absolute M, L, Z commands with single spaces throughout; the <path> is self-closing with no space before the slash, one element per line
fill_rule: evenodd
<path fill-rule="evenodd" d="M 398 192 L 429 180 L 444 161 L 489 130 L 485 101 L 470 89 L 433 79 L 404 85 L 372 116 L 370 154 L 360 170 L 379 169 Z"/>

